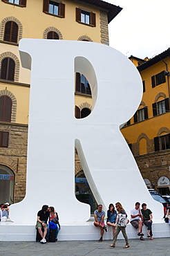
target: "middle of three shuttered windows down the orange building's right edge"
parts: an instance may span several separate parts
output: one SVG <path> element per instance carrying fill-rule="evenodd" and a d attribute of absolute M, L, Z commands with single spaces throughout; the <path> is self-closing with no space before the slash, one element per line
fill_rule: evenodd
<path fill-rule="evenodd" d="M 169 111 L 169 98 L 152 104 L 153 116 L 161 115 Z"/>

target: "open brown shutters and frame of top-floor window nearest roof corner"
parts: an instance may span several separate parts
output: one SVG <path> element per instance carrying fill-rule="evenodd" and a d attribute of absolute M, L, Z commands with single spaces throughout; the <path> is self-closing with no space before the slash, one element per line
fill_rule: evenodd
<path fill-rule="evenodd" d="M 86 24 L 85 22 L 82 22 L 82 12 L 84 13 L 89 13 L 89 24 Z M 88 10 L 84 10 L 82 8 L 76 8 L 75 9 L 75 20 L 80 23 L 80 24 L 84 24 L 86 26 L 91 26 L 91 27 L 95 27 L 96 26 L 96 17 L 95 17 L 95 12 L 92 11 L 88 11 Z"/>

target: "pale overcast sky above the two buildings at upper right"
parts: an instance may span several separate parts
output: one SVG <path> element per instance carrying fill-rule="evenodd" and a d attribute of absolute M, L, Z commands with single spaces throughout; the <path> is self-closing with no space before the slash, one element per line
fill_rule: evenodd
<path fill-rule="evenodd" d="M 111 47 L 141 59 L 170 47 L 170 0 L 105 1 L 123 8 L 108 25 Z"/>

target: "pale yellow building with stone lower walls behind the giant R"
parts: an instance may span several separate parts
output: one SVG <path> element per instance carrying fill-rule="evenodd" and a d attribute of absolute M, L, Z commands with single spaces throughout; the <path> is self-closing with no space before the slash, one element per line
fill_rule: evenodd
<path fill-rule="evenodd" d="M 0 10 L 0 203 L 15 203 L 26 193 L 30 93 L 30 71 L 21 66 L 19 40 L 108 45 L 108 23 L 122 8 L 100 0 L 1 0 Z M 90 85 L 83 74 L 75 74 L 75 80 L 75 116 L 84 118 L 91 113 Z M 75 160 L 78 178 L 83 170 Z"/>

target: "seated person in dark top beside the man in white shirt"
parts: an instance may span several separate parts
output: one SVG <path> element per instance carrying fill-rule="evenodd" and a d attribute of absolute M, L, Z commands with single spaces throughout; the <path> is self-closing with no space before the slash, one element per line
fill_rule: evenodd
<path fill-rule="evenodd" d="M 153 215 L 150 209 L 147 209 L 147 203 L 142 203 L 142 215 L 143 215 L 143 222 L 144 225 L 146 225 L 148 228 L 148 234 L 147 237 L 150 237 L 151 240 L 153 240 L 153 233 L 152 233 L 152 219 Z"/>

